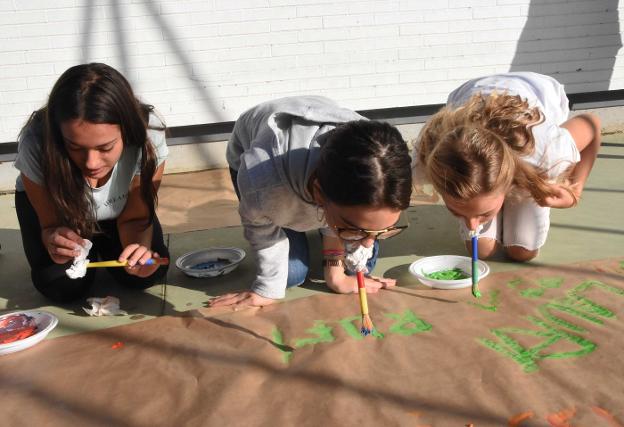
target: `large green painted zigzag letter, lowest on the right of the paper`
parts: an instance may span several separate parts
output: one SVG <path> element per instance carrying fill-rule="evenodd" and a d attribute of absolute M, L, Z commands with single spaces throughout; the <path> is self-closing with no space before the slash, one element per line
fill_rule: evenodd
<path fill-rule="evenodd" d="M 478 338 L 477 341 L 485 347 L 492 349 L 505 357 L 511 358 L 514 362 L 518 363 L 522 367 L 522 370 L 526 373 L 538 371 L 538 362 L 542 359 L 581 357 L 593 352 L 598 347 L 597 344 L 583 337 L 561 331 L 549 325 L 539 317 L 528 316 L 527 319 L 529 319 L 529 321 L 533 324 L 539 326 L 541 329 L 534 330 L 514 327 L 495 328 L 490 330 L 490 332 L 496 336 L 498 341 L 485 338 Z M 512 334 L 538 337 L 542 338 L 543 341 L 533 347 L 525 348 L 511 337 Z M 579 346 L 580 348 L 576 351 L 544 353 L 544 350 L 552 345 L 555 345 L 561 340 L 568 341 Z"/>

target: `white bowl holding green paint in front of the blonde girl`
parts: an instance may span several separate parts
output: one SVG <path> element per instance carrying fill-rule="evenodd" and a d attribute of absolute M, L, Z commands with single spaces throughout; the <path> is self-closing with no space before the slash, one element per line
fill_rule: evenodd
<path fill-rule="evenodd" d="M 479 280 L 490 274 L 490 267 L 483 261 L 479 260 Z M 436 289 L 460 289 L 472 286 L 472 277 L 459 280 L 437 280 L 431 279 L 426 274 L 436 271 L 452 270 L 459 268 L 468 276 L 472 275 L 472 259 L 459 255 L 438 255 L 421 258 L 413 262 L 409 271 L 423 284 Z"/>

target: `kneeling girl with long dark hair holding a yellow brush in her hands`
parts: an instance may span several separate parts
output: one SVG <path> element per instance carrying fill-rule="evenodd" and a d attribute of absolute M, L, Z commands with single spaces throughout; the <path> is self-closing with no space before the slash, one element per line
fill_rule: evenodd
<path fill-rule="evenodd" d="M 153 107 L 140 103 L 128 81 L 105 64 L 69 68 L 48 103 L 19 136 L 15 205 L 35 287 L 50 299 L 84 296 L 95 269 L 80 279 L 65 270 L 93 240 L 90 258 L 128 261 L 111 268 L 124 285 L 145 288 L 167 266 L 155 214 L 168 155 L 165 127 Z"/>

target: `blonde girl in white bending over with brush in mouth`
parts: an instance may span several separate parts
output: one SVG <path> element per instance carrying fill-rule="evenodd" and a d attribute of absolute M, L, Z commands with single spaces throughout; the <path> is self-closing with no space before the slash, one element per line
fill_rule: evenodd
<path fill-rule="evenodd" d="M 470 80 L 425 125 L 415 173 L 440 193 L 469 234 L 479 230 L 479 257 L 502 246 L 527 261 L 544 245 L 550 208 L 578 203 L 600 147 L 593 114 L 568 119 L 563 86 L 517 72 Z"/>

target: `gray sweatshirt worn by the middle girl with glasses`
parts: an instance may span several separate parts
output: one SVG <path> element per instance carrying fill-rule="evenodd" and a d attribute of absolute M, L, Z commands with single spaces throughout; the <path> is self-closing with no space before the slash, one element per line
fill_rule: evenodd
<path fill-rule="evenodd" d="M 227 161 L 238 171 L 239 213 L 245 238 L 256 253 L 252 290 L 283 298 L 289 244 L 282 228 L 326 227 L 308 190 L 325 134 L 337 123 L 366 120 L 320 96 L 282 98 L 260 104 L 236 121 Z"/>

